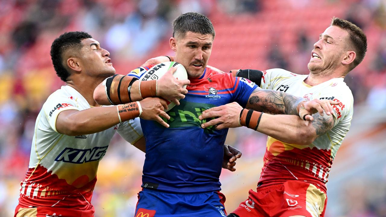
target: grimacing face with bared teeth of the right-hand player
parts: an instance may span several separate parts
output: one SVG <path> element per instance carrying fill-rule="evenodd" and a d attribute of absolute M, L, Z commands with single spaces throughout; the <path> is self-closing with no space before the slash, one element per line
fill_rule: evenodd
<path fill-rule="evenodd" d="M 348 32 L 337 26 L 328 27 L 314 44 L 308 69 L 311 73 L 335 70 L 348 51 Z"/>

